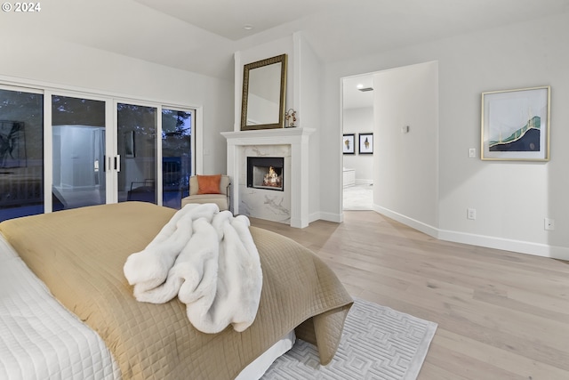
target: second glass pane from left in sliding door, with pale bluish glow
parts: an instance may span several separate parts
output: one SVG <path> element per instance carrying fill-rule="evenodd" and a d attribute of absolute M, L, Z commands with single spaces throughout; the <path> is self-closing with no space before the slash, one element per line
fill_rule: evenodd
<path fill-rule="evenodd" d="M 52 95 L 52 210 L 106 203 L 105 101 Z"/>

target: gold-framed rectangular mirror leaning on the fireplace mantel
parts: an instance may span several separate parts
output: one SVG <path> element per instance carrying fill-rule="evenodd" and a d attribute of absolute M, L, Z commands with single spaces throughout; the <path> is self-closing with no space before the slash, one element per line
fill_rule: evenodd
<path fill-rule="evenodd" d="M 241 130 L 284 127 L 286 54 L 244 65 Z"/>

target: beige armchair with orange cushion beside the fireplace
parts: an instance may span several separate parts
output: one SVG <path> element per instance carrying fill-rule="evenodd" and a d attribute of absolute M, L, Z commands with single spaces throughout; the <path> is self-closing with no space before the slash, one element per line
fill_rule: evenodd
<path fill-rule="evenodd" d="M 217 177 L 219 177 L 219 187 Z M 192 175 L 189 177 L 189 196 L 181 199 L 181 206 L 189 203 L 215 203 L 220 207 L 220 211 L 228 210 L 230 185 L 228 175 Z"/>

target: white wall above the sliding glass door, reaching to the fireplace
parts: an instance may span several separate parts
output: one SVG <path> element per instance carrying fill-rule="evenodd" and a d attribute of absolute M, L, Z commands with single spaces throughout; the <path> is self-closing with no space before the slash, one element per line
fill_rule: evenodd
<path fill-rule="evenodd" d="M 204 174 L 225 173 L 226 141 L 220 132 L 232 128 L 233 83 L 41 35 L 6 30 L 4 36 L 0 83 L 42 83 L 196 107 L 196 119 L 203 125 L 196 133 L 197 159 L 206 153 L 198 166 L 203 166 Z"/>

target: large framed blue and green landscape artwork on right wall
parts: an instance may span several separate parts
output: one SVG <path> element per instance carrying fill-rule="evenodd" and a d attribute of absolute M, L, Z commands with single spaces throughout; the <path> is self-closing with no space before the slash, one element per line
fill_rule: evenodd
<path fill-rule="evenodd" d="M 549 86 L 482 93 L 482 159 L 549 161 Z"/>

